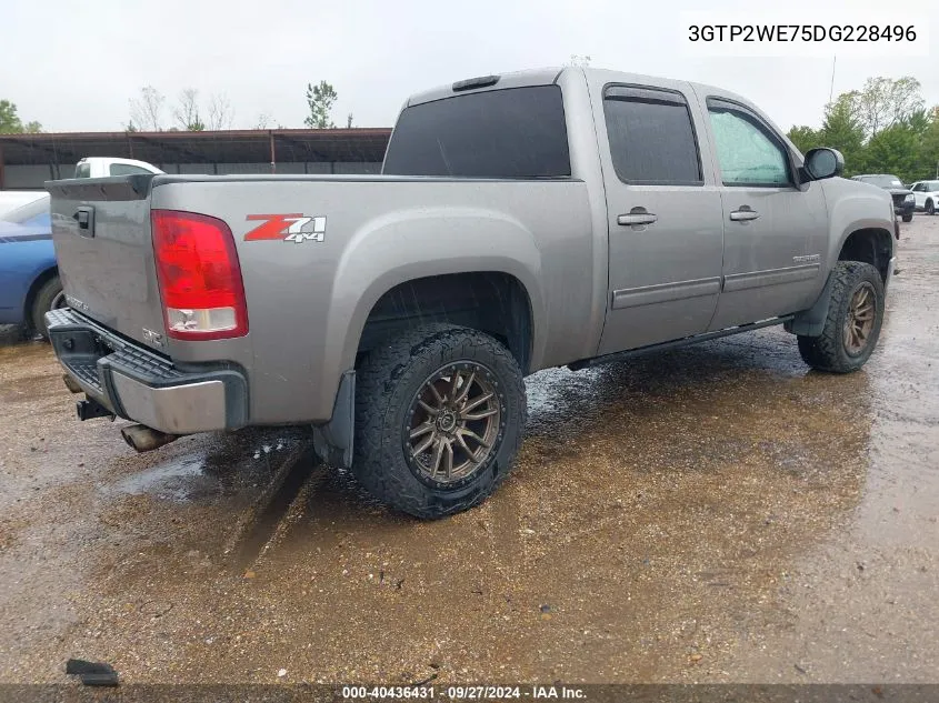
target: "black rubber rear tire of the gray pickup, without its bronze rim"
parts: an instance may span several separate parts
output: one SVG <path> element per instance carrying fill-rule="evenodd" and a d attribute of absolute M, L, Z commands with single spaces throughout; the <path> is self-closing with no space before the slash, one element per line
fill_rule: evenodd
<path fill-rule="evenodd" d="M 502 430 L 488 456 L 454 486 L 419 480 L 402 443 L 412 399 L 430 374 L 453 362 L 485 364 L 501 403 Z M 492 337 L 450 324 L 427 324 L 371 350 L 356 372 L 352 473 L 383 503 L 422 519 L 462 512 L 481 503 L 511 469 L 527 418 L 522 373 Z"/>

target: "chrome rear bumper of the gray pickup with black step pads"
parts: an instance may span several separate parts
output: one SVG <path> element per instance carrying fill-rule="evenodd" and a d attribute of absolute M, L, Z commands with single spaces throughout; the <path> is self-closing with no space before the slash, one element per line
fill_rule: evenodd
<path fill-rule="evenodd" d="M 66 308 L 46 314 L 49 341 L 86 395 L 168 434 L 248 424 L 248 381 L 231 364 L 181 369 Z"/>

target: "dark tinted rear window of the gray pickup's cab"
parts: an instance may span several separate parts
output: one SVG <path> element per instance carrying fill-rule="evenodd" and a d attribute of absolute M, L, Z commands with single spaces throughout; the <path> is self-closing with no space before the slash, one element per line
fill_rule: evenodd
<path fill-rule="evenodd" d="M 492 90 L 407 108 L 391 134 L 382 173 L 569 177 L 561 89 Z"/>

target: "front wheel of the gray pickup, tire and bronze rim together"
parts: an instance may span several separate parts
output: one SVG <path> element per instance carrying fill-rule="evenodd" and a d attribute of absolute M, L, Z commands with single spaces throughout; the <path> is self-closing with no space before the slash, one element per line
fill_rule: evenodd
<path fill-rule="evenodd" d="M 818 371 L 857 371 L 870 358 L 883 322 L 883 281 L 869 263 L 839 261 L 819 337 L 799 335 L 799 353 Z"/>

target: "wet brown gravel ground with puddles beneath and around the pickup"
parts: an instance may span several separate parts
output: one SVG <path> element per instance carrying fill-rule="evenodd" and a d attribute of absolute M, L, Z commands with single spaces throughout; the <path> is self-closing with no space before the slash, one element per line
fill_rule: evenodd
<path fill-rule="evenodd" d="M 0 682 L 937 682 L 939 218 L 900 268 L 849 376 L 776 329 L 535 375 L 515 473 L 433 523 L 302 431 L 137 455 L 0 348 Z"/>

